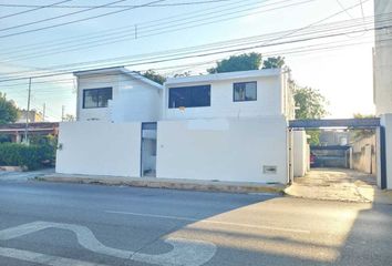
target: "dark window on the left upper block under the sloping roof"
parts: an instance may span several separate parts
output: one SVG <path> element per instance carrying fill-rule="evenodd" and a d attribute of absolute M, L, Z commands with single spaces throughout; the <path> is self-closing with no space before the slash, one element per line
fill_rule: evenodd
<path fill-rule="evenodd" d="M 83 109 L 107 108 L 112 91 L 112 88 L 83 90 Z"/>

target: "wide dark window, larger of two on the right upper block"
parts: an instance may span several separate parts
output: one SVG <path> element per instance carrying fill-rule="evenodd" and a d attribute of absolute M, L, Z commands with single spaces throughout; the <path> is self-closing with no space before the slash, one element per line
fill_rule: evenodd
<path fill-rule="evenodd" d="M 169 88 L 168 108 L 210 106 L 210 85 Z"/>

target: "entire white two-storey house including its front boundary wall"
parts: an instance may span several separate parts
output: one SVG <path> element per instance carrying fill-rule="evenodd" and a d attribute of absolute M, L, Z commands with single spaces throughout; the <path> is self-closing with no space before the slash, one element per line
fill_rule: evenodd
<path fill-rule="evenodd" d="M 60 125 L 59 173 L 289 181 L 293 99 L 283 70 L 164 86 L 124 68 L 75 75 L 78 121 Z"/>

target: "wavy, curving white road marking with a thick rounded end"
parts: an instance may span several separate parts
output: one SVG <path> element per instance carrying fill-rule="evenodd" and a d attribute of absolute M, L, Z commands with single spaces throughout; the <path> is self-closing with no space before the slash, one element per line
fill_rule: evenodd
<path fill-rule="evenodd" d="M 216 253 L 216 246 L 213 243 L 193 241 L 193 239 L 183 239 L 183 238 L 171 238 L 171 237 L 165 239 L 165 242 L 171 244 L 173 246 L 173 249 L 165 254 L 151 255 L 151 254 L 143 254 L 138 252 L 135 253 L 130 250 L 123 250 L 123 249 L 112 248 L 103 245 L 101 242 L 99 242 L 95 238 L 94 234 L 85 226 L 73 225 L 73 224 L 50 223 L 50 222 L 34 222 L 34 223 L 24 224 L 17 227 L 0 231 L 0 241 L 8 241 L 16 237 L 21 237 L 23 235 L 32 234 L 34 232 L 47 229 L 47 228 L 68 229 L 75 233 L 79 244 L 84 248 L 94 253 L 104 254 L 104 255 L 114 256 L 124 259 L 133 259 L 141 263 L 151 263 L 161 266 L 177 266 L 177 265 L 178 266 L 179 265 L 200 266 L 207 263 L 208 260 L 210 260 Z M 18 256 L 20 255 L 20 259 L 25 260 L 25 258 L 29 258 L 30 259 L 29 262 L 41 263 L 41 260 L 39 260 L 41 259 L 41 257 L 35 256 L 34 253 L 29 253 L 29 252 L 18 250 L 18 249 L 14 250 L 17 250 L 14 253 L 16 258 L 18 258 Z M 52 266 L 52 264 L 48 264 L 48 263 L 43 263 L 43 264 Z M 55 264 L 54 266 L 65 266 L 65 265 L 79 265 L 79 264 L 66 263 L 66 264 Z"/>

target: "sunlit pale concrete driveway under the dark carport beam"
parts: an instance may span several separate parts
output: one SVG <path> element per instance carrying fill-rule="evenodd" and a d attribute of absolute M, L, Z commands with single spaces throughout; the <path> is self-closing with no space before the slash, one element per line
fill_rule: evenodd
<path fill-rule="evenodd" d="M 375 176 L 347 168 L 312 168 L 295 178 L 289 195 L 343 202 L 369 202 L 362 191 L 375 191 Z"/>

